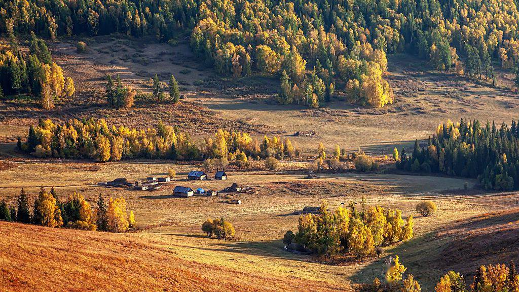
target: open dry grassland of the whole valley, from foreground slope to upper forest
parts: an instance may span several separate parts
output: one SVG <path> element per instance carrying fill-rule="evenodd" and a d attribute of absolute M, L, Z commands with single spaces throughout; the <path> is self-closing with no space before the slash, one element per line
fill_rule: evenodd
<path fill-rule="evenodd" d="M 172 47 L 118 36 L 85 41 L 86 54 L 76 52 L 73 40 L 50 44 L 54 59 L 77 84 L 73 100 L 59 102 L 54 111 L 42 110 L 30 100 L 0 100 L 0 158 L 12 161 L 0 168 L 0 197 L 12 204 L 24 188 L 32 206 L 42 185 L 56 188 L 62 200 L 77 191 L 91 205 L 99 194 L 124 196 L 139 227 L 150 228 L 111 234 L 0 222 L 0 291 L 350 291 L 355 283 L 383 278 L 383 260 L 322 264 L 284 251 L 282 238 L 287 230 L 296 231 L 295 211 L 322 200 L 336 208 L 360 202 L 362 196 L 368 206 L 397 207 L 404 216 L 416 215 L 415 205 L 421 200 L 438 205 L 433 216 L 416 215 L 411 241 L 385 247 L 385 255 L 401 257 L 424 291 L 433 290 L 449 270 L 469 276 L 471 282 L 479 264 L 516 258 L 519 194 L 484 192 L 475 180 L 357 172 L 304 179 L 301 169 L 307 161 L 284 161 L 279 171 L 233 171 L 228 181 L 188 181 L 188 171 L 201 169 L 200 163 L 40 160 L 13 151 L 16 137 L 40 117 L 103 117 L 138 128 L 162 120 L 198 140 L 219 127 L 256 137 L 313 129 L 316 136 L 293 137 L 305 154 L 315 153 L 320 140 L 329 151 L 339 144 L 348 150 L 361 147 L 390 154 L 397 145 L 400 150 L 403 144 L 428 138 L 448 119 L 500 124 L 516 118 L 519 103 L 506 88 L 510 80 L 502 72 L 502 85 L 494 88 L 424 71 L 426 65 L 414 57 L 390 56 L 387 78 L 397 96 L 394 104 L 369 109 L 334 99 L 323 108 L 308 109 L 275 104 L 276 80 L 216 76 L 186 43 Z M 131 110 L 107 108 L 104 76 L 115 73 L 142 92 L 151 91 L 149 79 L 155 73 L 163 82 L 173 73 L 187 99 L 178 104 L 137 102 Z M 336 89 L 338 97 L 342 88 Z M 95 185 L 119 177 L 166 176 L 169 169 L 175 169 L 177 177 L 158 191 Z M 233 182 L 254 192 L 172 196 L 175 185 L 220 190 Z M 226 203 L 229 200 L 242 204 Z M 204 236 L 202 222 L 219 217 L 234 224 L 238 240 Z M 498 254 L 488 246 L 496 247 Z"/>

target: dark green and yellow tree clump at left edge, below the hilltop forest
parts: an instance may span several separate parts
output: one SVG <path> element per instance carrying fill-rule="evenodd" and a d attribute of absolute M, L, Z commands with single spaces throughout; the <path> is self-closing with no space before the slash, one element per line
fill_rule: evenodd
<path fill-rule="evenodd" d="M 74 94 L 74 81 L 52 62 L 47 45 L 32 34 L 28 54 L 15 47 L 0 47 L 0 96 L 26 94 L 40 99 L 45 109 Z"/>

